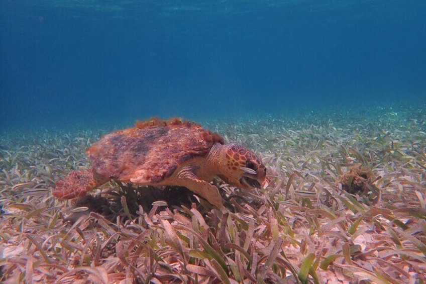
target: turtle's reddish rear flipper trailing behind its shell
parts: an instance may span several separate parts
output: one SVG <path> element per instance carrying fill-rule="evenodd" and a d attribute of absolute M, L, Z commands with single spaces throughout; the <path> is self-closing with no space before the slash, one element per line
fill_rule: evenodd
<path fill-rule="evenodd" d="M 61 199 L 72 199 L 85 196 L 89 191 L 108 180 L 97 179 L 93 175 L 93 169 L 74 170 L 65 178 L 56 182 L 53 196 Z"/>

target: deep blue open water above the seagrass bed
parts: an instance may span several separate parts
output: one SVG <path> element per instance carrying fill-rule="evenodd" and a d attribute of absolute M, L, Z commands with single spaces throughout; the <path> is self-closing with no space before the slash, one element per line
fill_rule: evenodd
<path fill-rule="evenodd" d="M 426 99 L 426 1 L 2 0 L 0 129 Z"/>

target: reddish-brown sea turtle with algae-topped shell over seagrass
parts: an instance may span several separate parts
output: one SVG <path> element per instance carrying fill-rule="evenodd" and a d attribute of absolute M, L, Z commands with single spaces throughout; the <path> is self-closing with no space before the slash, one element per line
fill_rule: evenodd
<path fill-rule="evenodd" d="M 222 197 L 210 181 L 219 176 L 251 190 L 265 180 L 266 167 L 250 150 L 224 144 L 224 138 L 179 118 L 138 121 L 133 128 L 103 136 L 87 149 L 92 167 L 56 182 L 53 195 L 72 199 L 111 179 L 142 185 L 178 185 L 221 208 Z"/>

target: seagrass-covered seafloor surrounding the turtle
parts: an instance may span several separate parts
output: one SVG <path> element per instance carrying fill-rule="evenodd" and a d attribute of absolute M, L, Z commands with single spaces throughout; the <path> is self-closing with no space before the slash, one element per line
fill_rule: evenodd
<path fill-rule="evenodd" d="M 141 193 L 108 195 L 119 191 L 114 182 L 102 187 L 114 206 L 75 205 L 52 197 L 54 182 L 88 165 L 84 150 L 100 135 L 126 125 L 2 132 L 0 281 L 426 281 L 424 103 L 199 123 L 258 153 L 266 188 L 215 181 L 223 212 L 188 193 L 183 207 L 167 194 L 154 206 Z M 372 177 L 349 194 L 340 181 L 355 164 Z M 88 203 L 112 209 L 75 209 Z"/>

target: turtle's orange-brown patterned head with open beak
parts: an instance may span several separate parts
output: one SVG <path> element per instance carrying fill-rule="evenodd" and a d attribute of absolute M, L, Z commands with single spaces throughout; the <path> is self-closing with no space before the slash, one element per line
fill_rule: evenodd
<path fill-rule="evenodd" d="M 220 178 L 245 190 L 262 186 L 266 167 L 255 153 L 238 144 L 223 145 L 222 151 L 225 161 L 222 161 Z"/>

